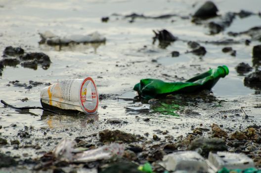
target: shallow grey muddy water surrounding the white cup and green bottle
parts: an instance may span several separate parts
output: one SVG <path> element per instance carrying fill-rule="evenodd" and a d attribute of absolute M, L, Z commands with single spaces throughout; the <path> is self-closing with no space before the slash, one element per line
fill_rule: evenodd
<path fill-rule="evenodd" d="M 260 0 L 243 1 L 216 0 L 219 14 L 238 12 L 241 9 L 258 12 Z M 194 7 L 193 7 L 194 4 Z M 215 36 L 208 34 L 208 28 L 191 23 L 192 14 L 199 6 L 199 0 L 1 0 L 0 1 L 0 51 L 6 46 L 21 46 L 26 52 L 44 52 L 52 63 L 47 70 L 38 66 L 37 70 L 16 67 L 5 67 L 0 77 L 0 98 L 16 106 L 41 106 L 40 91 L 44 85 L 25 89 L 24 87 L 7 86 L 10 81 L 18 80 L 29 85 L 29 81 L 55 83 L 63 79 L 85 78 L 94 79 L 99 94 L 113 95 L 108 99 L 100 100 L 96 115 L 53 115 L 41 110 L 18 112 L 13 109 L 0 107 L 0 134 L 8 140 L 18 139 L 17 133 L 24 126 L 32 126 L 32 140 L 22 143 L 40 143 L 41 151 L 51 150 L 57 140 L 64 137 L 75 138 L 97 133 L 103 129 L 119 129 L 141 134 L 149 133 L 152 138 L 155 130 L 168 130 L 170 135 L 179 136 L 191 131 L 191 126 L 203 124 L 209 128 L 212 123 L 223 125 L 224 128 L 244 129 L 244 127 L 261 124 L 260 111 L 256 108 L 261 103 L 260 92 L 245 87 L 244 76 L 235 71 L 240 62 L 252 63 L 252 48 L 259 44 L 253 41 L 249 46 L 244 42 L 229 44 L 237 51 L 236 56 L 223 53 L 221 49 L 228 45 L 205 43 L 234 39 L 244 41 L 247 36 L 231 38 L 227 32 L 241 32 L 258 26 L 261 18 L 253 15 L 244 19 L 236 17 L 230 27 Z M 131 18 L 124 15 L 136 12 L 148 16 L 162 14 L 178 14 L 168 19 Z M 114 14 L 114 15 L 113 15 Z M 117 14 L 117 15 L 116 15 Z M 107 23 L 101 22 L 102 16 L 109 16 Z M 180 16 L 187 16 L 182 19 Z M 152 30 L 168 29 L 179 40 L 165 49 L 152 44 L 154 36 Z M 38 33 L 51 31 L 60 36 L 72 34 L 89 34 L 98 31 L 107 39 L 105 44 L 78 44 L 69 46 L 39 45 Z M 207 54 L 198 57 L 185 53 L 189 48 L 187 41 L 197 41 L 206 47 Z M 172 51 L 179 51 L 179 57 L 171 57 Z M 157 62 L 152 62 L 157 60 Z M 159 78 L 165 81 L 179 81 L 179 78 L 190 77 L 204 72 L 209 68 L 227 65 L 230 74 L 220 79 L 213 88 L 213 93 L 222 102 L 197 101 L 168 101 L 172 112 L 133 113 L 128 112 L 125 106 L 132 101 L 116 99 L 121 94 L 131 91 L 132 87 L 142 78 Z M 166 76 L 164 74 L 168 74 Z M 174 77 L 177 76 L 177 77 Z M 22 102 L 27 97 L 29 100 Z M 181 100 L 181 99 L 180 99 Z M 177 105 L 177 106 L 176 106 Z M 105 107 L 106 108 L 105 108 Z M 164 106 L 163 106 L 164 107 Z M 250 119 L 240 109 L 245 107 Z M 190 109 L 198 114 L 186 116 L 184 109 Z M 175 116 L 174 114 L 178 115 Z M 239 114 L 239 116 L 234 116 Z M 224 119 L 224 115 L 228 118 Z M 117 117 L 128 123 L 120 125 L 107 124 L 109 118 Z M 150 121 L 144 121 L 149 118 Z M 90 121 L 91 120 L 91 121 Z M 92 121 L 93 120 L 93 121 Z M 15 124 L 16 127 L 11 127 Z M 44 135 L 47 131 L 47 135 Z M 47 136 L 52 140 L 45 143 Z M 160 135 L 161 136 L 161 135 Z M 56 140 L 55 140 L 56 139 Z M 23 143 L 23 144 L 24 144 Z M 27 157 L 39 157 L 29 150 L 13 150 L 11 146 L 4 151 L 10 155 L 29 153 Z"/>

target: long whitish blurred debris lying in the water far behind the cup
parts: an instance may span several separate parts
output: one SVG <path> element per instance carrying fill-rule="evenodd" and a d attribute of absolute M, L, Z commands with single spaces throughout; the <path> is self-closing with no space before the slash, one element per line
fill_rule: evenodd
<path fill-rule="evenodd" d="M 98 32 L 93 32 L 88 35 L 71 35 L 71 36 L 56 36 L 50 31 L 44 33 L 39 33 L 41 36 L 41 41 L 39 43 L 47 43 L 49 45 L 60 45 L 68 43 L 101 43 L 105 42 L 106 38 L 99 34 Z"/>

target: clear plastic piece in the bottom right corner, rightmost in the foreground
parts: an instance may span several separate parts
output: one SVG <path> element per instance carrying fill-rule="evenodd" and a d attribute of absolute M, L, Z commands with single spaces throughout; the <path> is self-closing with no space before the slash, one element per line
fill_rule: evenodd
<path fill-rule="evenodd" d="M 255 167 L 253 160 L 247 157 L 243 153 L 229 153 L 229 152 L 217 152 L 217 154 L 210 153 L 208 160 L 218 170 L 224 167 L 229 170 Z"/>

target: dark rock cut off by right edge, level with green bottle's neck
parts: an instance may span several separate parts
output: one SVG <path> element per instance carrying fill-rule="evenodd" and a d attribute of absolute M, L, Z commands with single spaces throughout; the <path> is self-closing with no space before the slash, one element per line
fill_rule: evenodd
<path fill-rule="evenodd" d="M 244 85 L 247 87 L 261 88 L 261 71 L 257 70 L 245 77 Z"/>

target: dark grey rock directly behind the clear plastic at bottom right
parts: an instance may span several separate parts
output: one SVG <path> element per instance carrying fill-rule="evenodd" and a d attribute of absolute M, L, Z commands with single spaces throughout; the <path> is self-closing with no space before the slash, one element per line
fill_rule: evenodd
<path fill-rule="evenodd" d="M 203 157 L 208 157 L 211 151 L 227 151 L 227 146 L 225 142 L 219 138 L 198 138 L 191 142 L 188 150 L 201 149 L 201 155 Z"/>

